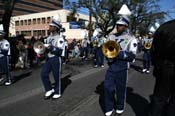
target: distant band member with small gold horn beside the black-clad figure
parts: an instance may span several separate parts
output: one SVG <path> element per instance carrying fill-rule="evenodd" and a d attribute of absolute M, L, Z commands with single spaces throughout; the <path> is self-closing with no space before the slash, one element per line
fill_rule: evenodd
<path fill-rule="evenodd" d="M 151 66 L 151 46 L 153 41 L 153 32 L 148 33 L 148 37 L 143 40 L 143 70 L 142 73 L 150 73 Z"/>

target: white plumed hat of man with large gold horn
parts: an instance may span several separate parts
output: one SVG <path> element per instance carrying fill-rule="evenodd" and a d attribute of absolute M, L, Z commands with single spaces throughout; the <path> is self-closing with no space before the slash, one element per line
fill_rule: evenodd
<path fill-rule="evenodd" d="M 116 24 L 129 26 L 129 16 L 131 15 L 131 11 L 126 4 L 122 5 L 120 10 L 118 11 L 118 15 L 120 15 L 120 19 L 116 22 Z"/>

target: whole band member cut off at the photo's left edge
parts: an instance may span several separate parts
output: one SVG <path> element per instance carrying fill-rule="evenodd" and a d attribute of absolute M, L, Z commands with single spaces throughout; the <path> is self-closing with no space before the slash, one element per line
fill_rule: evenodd
<path fill-rule="evenodd" d="M 13 77 L 9 71 L 10 43 L 4 39 L 3 25 L 0 25 L 0 68 L 6 75 L 5 85 L 11 85 Z M 0 75 L 2 80 L 2 75 Z"/>

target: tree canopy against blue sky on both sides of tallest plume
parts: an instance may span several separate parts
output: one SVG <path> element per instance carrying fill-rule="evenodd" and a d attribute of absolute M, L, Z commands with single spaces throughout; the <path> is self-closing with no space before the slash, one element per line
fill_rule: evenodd
<path fill-rule="evenodd" d="M 69 0 L 68 0 L 69 1 Z M 155 21 L 163 21 L 166 12 L 160 11 L 159 0 L 78 0 L 76 8 L 87 8 L 95 18 L 96 25 L 108 35 L 119 18 L 120 7 L 125 3 L 132 12 L 131 30 L 136 33 L 146 33 L 148 26 Z M 70 2 L 70 1 L 69 1 Z M 91 4 L 89 4 L 91 3 Z"/>

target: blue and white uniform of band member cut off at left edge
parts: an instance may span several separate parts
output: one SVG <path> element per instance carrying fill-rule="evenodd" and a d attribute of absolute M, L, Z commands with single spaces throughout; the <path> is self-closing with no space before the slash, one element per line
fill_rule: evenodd
<path fill-rule="evenodd" d="M 12 76 L 9 71 L 9 55 L 10 55 L 10 43 L 2 39 L 0 40 L 0 67 L 6 74 L 6 81 L 11 81 Z"/>

